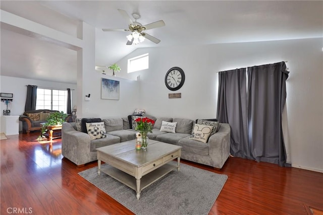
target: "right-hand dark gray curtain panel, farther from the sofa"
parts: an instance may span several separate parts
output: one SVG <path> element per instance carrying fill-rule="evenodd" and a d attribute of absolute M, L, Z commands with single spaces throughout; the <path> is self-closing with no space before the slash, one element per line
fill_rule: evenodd
<path fill-rule="evenodd" d="M 249 144 L 258 162 L 286 164 L 282 111 L 288 73 L 285 62 L 247 68 Z"/>

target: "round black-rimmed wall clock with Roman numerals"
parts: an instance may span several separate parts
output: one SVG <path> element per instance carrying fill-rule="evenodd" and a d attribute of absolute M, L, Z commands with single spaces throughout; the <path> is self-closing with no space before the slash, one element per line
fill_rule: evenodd
<path fill-rule="evenodd" d="M 169 90 L 179 90 L 185 82 L 185 74 L 180 67 L 173 67 L 167 71 L 165 85 Z"/>

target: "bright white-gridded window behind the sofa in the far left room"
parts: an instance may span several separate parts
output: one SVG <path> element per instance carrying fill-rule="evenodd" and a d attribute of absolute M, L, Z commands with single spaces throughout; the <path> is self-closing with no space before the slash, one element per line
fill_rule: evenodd
<path fill-rule="evenodd" d="M 37 88 L 36 110 L 49 109 L 67 112 L 67 91 Z"/>

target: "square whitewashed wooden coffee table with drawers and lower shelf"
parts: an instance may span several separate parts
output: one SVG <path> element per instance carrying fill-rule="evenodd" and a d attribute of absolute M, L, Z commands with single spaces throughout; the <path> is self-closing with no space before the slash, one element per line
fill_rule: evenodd
<path fill-rule="evenodd" d="M 97 148 L 98 175 L 103 172 L 136 191 L 141 190 L 177 168 L 180 170 L 180 146 L 147 140 L 146 151 L 135 149 L 135 140 Z M 177 163 L 170 162 L 177 158 Z M 101 169 L 101 161 L 109 164 Z M 177 165 L 176 165 L 177 164 Z"/>

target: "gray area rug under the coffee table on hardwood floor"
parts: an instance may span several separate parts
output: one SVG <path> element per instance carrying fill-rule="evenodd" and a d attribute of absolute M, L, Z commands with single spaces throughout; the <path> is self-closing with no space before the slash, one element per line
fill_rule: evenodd
<path fill-rule="evenodd" d="M 177 162 L 174 161 L 176 165 Z M 101 168 L 104 167 L 103 164 Z M 181 164 L 141 191 L 136 192 L 101 172 L 97 167 L 78 173 L 136 214 L 207 214 L 221 192 L 228 176 Z"/>

